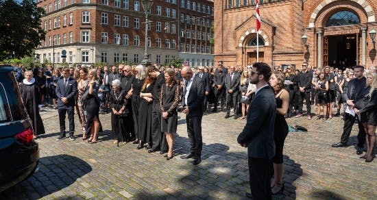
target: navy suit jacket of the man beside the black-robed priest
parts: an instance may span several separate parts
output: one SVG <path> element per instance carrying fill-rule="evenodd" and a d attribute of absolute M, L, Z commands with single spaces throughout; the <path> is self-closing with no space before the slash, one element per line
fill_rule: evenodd
<path fill-rule="evenodd" d="M 58 85 L 56 86 L 56 96 L 58 97 L 58 107 L 59 108 L 70 108 L 75 106 L 75 95 L 77 92 L 77 82 L 73 77 L 68 78 L 67 86 L 64 86 L 64 78 L 58 80 Z M 63 103 L 60 99 L 61 97 L 66 97 L 68 99 L 67 103 Z"/>

